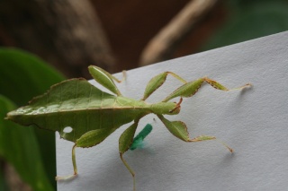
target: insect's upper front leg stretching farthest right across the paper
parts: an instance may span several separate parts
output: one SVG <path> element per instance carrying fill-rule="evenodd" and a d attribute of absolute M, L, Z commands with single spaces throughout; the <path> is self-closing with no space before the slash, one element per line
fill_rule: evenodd
<path fill-rule="evenodd" d="M 232 90 L 242 90 L 243 88 L 251 86 L 250 83 L 247 83 L 241 87 L 234 88 L 234 89 L 228 89 L 219 82 L 213 81 L 207 77 L 200 78 L 198 80 L 195 80 L 193 82 L 187 82 L 184 85 L 180 86 L 178 89 L 173 91 L 170 95 L 166 97 L 166 99 L 162 100 L 163 102 L 166 102 L 168 100 L 172 100 L 176 97 L 184 97 L 188 98 L 193 96 L 201 87 L 203 82 L 209 83 L 213 88 L 220 90 L 220 91 L 232 91 Z"/>

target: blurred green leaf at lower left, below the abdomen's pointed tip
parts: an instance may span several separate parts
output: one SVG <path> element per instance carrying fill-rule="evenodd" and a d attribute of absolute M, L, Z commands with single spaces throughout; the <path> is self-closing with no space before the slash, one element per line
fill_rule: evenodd
<path fill-rule="evenodd" d="M 12 101 L 0 96 L 0 155 L 14 166 L 33 190 L 53 190 L 45 173 L 34 131 L 4 120 L 15 108 Z"/>

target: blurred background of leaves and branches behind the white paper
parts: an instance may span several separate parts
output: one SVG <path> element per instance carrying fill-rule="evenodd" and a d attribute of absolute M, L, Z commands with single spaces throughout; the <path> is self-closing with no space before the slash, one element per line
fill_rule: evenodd
<path fill-rule="evenodd" d="M 287 0 L 0 0 L 0 120 L 55 82 L 91 79 L 88 65 L 116 73 L 275 34 L 287 10 Z M 0 123 L 0 191 L 55 190 L 54 134 L 23 129 Z"/>

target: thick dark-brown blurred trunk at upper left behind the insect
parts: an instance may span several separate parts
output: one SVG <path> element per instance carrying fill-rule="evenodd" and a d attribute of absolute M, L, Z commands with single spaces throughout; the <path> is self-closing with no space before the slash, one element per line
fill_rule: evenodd
<path fill-rule="evenodd" d="M 2 0 L 0 27 L 14 46 L 41 56 L 69 77 L 83 76 L 87 65 L 113 70 L 111 48 L 89 0 Z"/>

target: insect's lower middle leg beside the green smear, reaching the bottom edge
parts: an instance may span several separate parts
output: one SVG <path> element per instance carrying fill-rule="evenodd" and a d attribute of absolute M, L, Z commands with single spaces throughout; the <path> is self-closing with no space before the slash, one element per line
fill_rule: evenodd
<path fill-rule="evenodd" d="M 129 126 L 120 136 L 119 139 L 119 153 L 120 153 L 120 158 L 125 167 L 130 171 L 130 174 L 132 175 L 133 178 L 133 190 L 136 190 L 136 182 L 135 182 L 135 173 L 133 169 L 130 168 L 128 165 L 127 161 L 124 160 L 123 154 L 126 152 L 129 148 L 131 143 L 133 142 L 133 137 L 135 135 L 135 131 L 138 126 L 139 119 L 136 119 L 135 122 Z"/>

